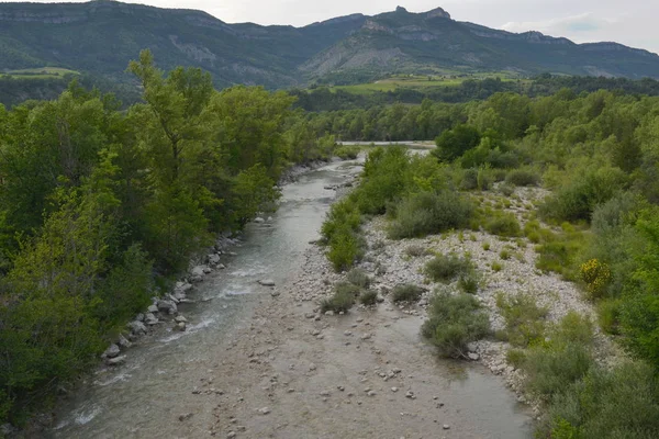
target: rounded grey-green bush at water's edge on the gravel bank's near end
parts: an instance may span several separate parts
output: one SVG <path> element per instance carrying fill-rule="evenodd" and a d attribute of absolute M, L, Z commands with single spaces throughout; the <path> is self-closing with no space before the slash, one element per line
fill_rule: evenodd
<path fill-rule="evenodd" d="M 488 315 L 469 294 L 437 293 L 431 303 L 428 317 L 422 326 L 422 334 L 445 357 L 465 357 L 469 342 L 490 333 Z"/>

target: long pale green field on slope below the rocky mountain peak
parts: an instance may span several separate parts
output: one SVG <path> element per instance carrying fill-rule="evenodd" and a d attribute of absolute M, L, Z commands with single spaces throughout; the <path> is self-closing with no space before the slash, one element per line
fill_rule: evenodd
<path fill-rule="evenodd" d="M 354 94 L 369 94 L 375 92 L 394 91 L 401 88 L 409 89 L 428 89 L 438 87 L 458 87 L 466 80 L 482 80 L 488 78 L 501 78 L 502 81 L 512 82 L 518 80 L 507 72 L 492 72 L 463 76 L 437 76 L 437 75 L 396 75 L 390 78 L 380 79 L 370 83 L 358 83 L 353 86 L 335 86 L 332 91 L 343 90 Z M 528 80 L 524 80 L 528 81 Z"/>

